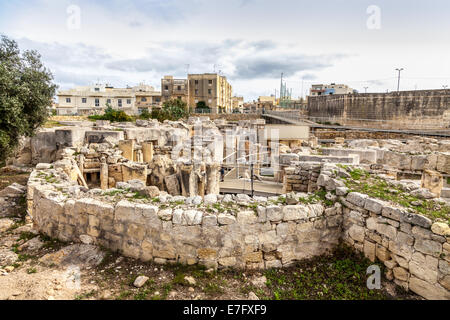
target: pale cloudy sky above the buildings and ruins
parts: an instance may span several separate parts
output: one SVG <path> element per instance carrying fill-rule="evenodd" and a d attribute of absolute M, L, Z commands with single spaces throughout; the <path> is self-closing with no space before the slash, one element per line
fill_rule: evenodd
<path fill-rule="evenodd" d="M 61 89 L 220 71 L 246 100 L 312 83 L 450 86 L 448 0 L 0 0 L 0 34 L 38 50 Z"/>

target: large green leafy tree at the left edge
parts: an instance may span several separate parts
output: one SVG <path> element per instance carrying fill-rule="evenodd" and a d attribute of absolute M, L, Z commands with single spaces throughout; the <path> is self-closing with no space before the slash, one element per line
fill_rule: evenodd
<path fill-rule="evenodd" d="M 20 52 L 17 43 L 0 38 L 0 164 L 19 139 L 45 123 L 57 86 L 36 51 Z"/>

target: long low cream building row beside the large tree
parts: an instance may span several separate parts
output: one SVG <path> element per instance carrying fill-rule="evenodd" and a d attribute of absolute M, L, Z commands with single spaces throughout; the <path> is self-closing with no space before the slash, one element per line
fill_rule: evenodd
<path fill-rule="evenodd" d="M 137 115 L 161 104 L 161 93 L 152 86 L 140 84 L 114 88 L 105 84 L 76 87 L 58 92 L 58 115 L 101 114 L 107 105 L 127 114 Z"/>

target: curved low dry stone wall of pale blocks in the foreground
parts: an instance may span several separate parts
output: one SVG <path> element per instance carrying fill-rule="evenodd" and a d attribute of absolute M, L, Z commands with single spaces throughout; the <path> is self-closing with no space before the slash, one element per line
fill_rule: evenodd
<path fill-rule="evenodd" d="M 349 192 L 339 179 L 348 173 L 333 164 L 293 165 L 286 176 L 305 177 L 298 179 L 307 186 L 303 190 L 328 191 L 327 206 L 301 204 L 298 193 L 282 201 L 209 194 L 160 196 L 150 203 L 132 198 L 110 202 L 96 196 L 101 190 L 84 190 L 62 170 L 48 167 L 31 174 L 29 200 L 38 231 L 144 261 L 210 268 L 284 267 L 323 254 L 343 240 L 370 260 L 383 262 L 388 279 L 405 289 L 426 299 L 450 299 L 448 224 Z M 241 210 L 221 211 L 227 203 L 240 204 Z"/>

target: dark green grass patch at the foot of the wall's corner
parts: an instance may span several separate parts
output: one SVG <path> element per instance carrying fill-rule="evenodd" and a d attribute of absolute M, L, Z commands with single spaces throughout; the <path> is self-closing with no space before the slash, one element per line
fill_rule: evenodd
<path fill-rule="evenodd" d="M 366 286 L 367 268 L 373 263 L 361 253 L 341 245 L 333 255 L 304 260 L 289 269 L 265 272 L 269 295 L 273 300 L 367 300 L 389 298 L 382 290 Z M 379 264 L 383 270 L 383 265 Z M 248 288 L 251 289 L 251 288 Z M 259 294 L 258 294 L 259 293 Z"/>

